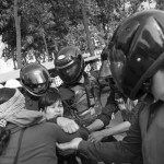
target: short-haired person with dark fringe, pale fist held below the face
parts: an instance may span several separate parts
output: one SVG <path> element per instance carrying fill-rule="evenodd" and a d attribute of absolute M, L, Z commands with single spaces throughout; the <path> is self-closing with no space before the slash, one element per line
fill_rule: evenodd
<path fill-rule="evenodd" d="M 38 108 L 45 115 L 47 121 L 57 124 L 65 132 L 77 132 L 77 136 L 87 139 L 89 131 L 86 128 L 79 127 L 73 119 L 65 117 L 61 97 L 56 87 L 49 87 L 39 98 Z"/>

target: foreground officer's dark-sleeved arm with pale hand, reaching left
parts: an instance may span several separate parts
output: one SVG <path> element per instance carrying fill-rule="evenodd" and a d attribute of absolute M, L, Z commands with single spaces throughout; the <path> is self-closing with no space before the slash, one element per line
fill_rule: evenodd
<path fill-rule="evenodd" d="M 63 150 L 78 149 L 82 154 L 93 160 L 120 163 L 142 159 L 141 142 L 139 117 L 137 117 L 122 141 L 89 142 L 78 138 L 75 141 L 59 144 L 58 147 Z"/>

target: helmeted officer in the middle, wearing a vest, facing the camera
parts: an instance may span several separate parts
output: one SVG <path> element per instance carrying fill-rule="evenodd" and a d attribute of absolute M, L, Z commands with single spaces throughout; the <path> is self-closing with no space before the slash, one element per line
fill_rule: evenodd
<path fill-rule="evenodd" d="M 84 72 L 84 59 L 78 47 L 62 48 L 55 60 L 55 68 L 62 80 L 59 87 L 68 116 L 91 132 L 108 125 L 109 116 L 102 113 L 101 90 L 96 79 Z"/>

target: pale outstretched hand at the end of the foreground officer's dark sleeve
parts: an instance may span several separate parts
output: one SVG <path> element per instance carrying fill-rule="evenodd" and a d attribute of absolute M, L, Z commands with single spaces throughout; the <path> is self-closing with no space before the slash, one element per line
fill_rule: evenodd
<path fill-rule="evenodd" d="M 68 149 L 78 150 L 78 147 L 81 141 L 82 141 L 82 138 L 74 138 L 70 142 L 56 143 L 56 144 L 57 144 L 57 148 L 59 148 L 60 150 L 68 150 Z"/>

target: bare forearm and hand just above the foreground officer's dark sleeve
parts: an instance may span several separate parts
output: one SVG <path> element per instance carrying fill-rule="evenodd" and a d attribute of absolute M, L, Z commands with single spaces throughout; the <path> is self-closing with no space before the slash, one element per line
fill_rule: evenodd
<path fill-rule="evenodd" d="M 131 125 L 129 121 L 124 121 L 115 127 L 107 128 L 107 129 L 104 129 L 101 131 L 92 132 L 89 137 L 89 141 L 91 141 L 91 142 L 102 141 L 104 138 L 106 138 L 108 136 L 115 136 L 115 134 L 128 131 L 130 126 Z"/>

